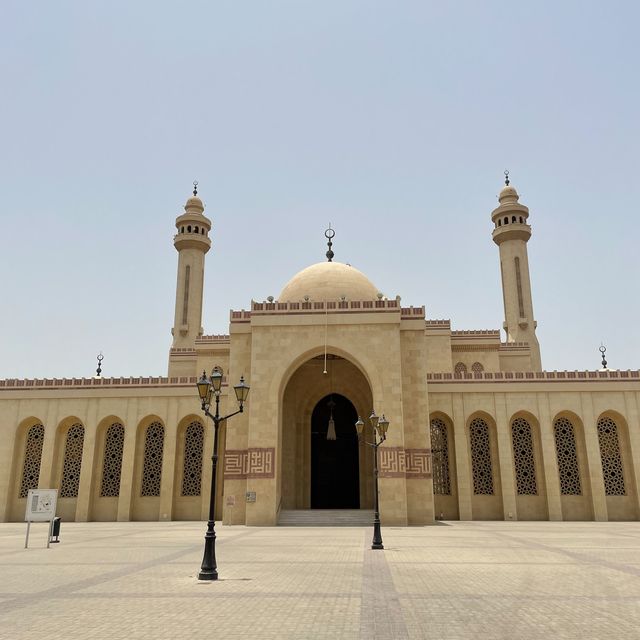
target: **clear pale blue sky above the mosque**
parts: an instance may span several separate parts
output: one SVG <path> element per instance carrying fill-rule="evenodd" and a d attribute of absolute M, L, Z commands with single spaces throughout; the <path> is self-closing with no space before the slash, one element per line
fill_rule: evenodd
<path fill-rule="evenodd" d="M 175 217 L 205 333 L 324 259 L 500 328 L 490 213 L 531 211 L 545 369 L 640 366 L 637 2 L 5 0 L 0 377 L 165 375 Z"/>

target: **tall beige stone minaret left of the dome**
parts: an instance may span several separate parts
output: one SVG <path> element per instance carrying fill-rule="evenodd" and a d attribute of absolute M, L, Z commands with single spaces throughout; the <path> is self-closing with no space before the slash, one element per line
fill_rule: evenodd
<path fill-rule="evenodd" d="M 169 358 L 170 376 L 196 375 L 195 340 L 202 335 L 204 256 L 211 248 L 211 220 L 204 215 L 204 205 L 198 198 L 197 181 L 193 186 L 193 196 L 187 200 L 184 213 L 176 218 L 178 232 L 173 238 L 173 245 L 178 251 L 178 282 L 171 330 L 173 345 Z M 180 352 L 175 351 L 177 349 Z"/>

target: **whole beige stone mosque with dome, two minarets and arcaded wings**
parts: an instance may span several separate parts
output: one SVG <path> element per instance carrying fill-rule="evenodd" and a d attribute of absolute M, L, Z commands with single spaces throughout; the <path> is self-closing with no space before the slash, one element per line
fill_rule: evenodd
<path fill-rule="evenodd" d="M 176 219 L 167 377 L 0 380 L 0 521 L 24 518 L 32 488 L 57 488 L 67 521 L 206 519 L 213 429 L 198 375 L 251 392 L 222 423 L 217 517 L 225 524 L 369 515 L 372 447 L 354 427 L 389 420 L 378 449 L 383 524 L 445 520 L 637 520 L 640 372 L 542 369 L 531 292 L 529 210 L 509 184 L 491 213 L 504 324 L 452 331 L 326 260 L 277 299 L 202 328 L 211 221 L 194 190 Z M 338 511 L 339 510 L 339 511 Z M 296 520 L 298 518 L 298 520 Z M 348 521 L 348 519 L 347 519 Z"/>

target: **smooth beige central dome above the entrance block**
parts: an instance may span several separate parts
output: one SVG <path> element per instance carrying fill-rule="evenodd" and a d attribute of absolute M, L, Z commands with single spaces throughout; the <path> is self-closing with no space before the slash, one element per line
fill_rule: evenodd
<path fill-rule="evenodd" d="M 280 293 L 280 302 L 375 300 L 378 289 L 361 271 L 341 262 L 318 262 L 297 273 Z"/>

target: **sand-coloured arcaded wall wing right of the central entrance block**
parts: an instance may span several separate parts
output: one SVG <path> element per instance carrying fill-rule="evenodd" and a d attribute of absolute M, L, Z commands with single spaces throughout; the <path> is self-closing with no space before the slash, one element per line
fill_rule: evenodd
<path fill-rule="evenodd" d="M 429 392 L 436 517 L 638 519 L 638 383 L 476 376 Z"/>

